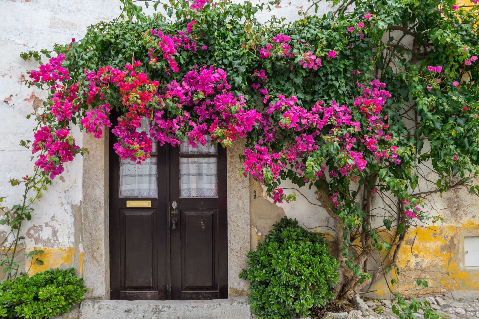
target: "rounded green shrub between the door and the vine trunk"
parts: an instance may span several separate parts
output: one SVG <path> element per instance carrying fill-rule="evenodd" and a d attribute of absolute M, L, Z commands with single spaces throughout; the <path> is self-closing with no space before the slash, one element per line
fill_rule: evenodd
<path fill-rule="evenodd" d="M 338 262 L 322 234 L 308 232 L 297 220 L 283 217 L 248 253 L 251 311 L 258 317 L 306 317 L 312 306 L 324 306 L 338 282 Z"/>

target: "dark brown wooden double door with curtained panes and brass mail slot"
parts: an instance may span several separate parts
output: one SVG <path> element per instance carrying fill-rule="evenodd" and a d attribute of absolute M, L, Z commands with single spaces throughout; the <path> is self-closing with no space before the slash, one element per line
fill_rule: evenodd
<path fill-rule="evenodd" d="M 142 165 L 110 152 L 111 299 L 228 298 L 226 151 L 165 144 Z"/>

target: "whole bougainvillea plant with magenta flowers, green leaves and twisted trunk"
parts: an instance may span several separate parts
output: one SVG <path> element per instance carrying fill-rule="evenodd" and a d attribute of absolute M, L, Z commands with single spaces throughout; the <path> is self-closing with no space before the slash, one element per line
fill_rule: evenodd
<path fill-rule="evenodd" d="M 112 114 L 116 154 L 139 165 L 154 142 L 246 138 L 241 174 L 275 202 L 317 190 L 313 204 L 335 223 L 339 299 L 399 271 L 408 229 L 442 221 L 428 196 L 478 193 L 477 1 L 350 0 L 323 16 L 309 12 L 315 1 L 289 24 L 259 23 L 268 4 L 146 1 L 166 12 L 148 16 L 133 2 L 83 39 L 23 54 L 44 63 L 29 85 L 50 90 L 34 113 L 34 141 L 23 142 L 41 174 L 34 187 L 87 151 L 72 125 L 101 138 Z M 139 132 L 145 117 L 149 132 Z M 286 179 L 294 193 L 281 187 Z M 379 266 L 368 261 L 377 251 Z"/>

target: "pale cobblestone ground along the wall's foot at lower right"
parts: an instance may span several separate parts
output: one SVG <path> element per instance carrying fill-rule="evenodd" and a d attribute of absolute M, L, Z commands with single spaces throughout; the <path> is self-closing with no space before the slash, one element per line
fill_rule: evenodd
<path fill-rule="evenodd" d="M 470 295 L 452 295 L 447 293 L 440 296 L 429 296 L 427 298 L 431 302 L 431 307 L 438 313 L 450 319 L 469 318 L 479 319 L 479 296 Z M 477 299 L 476 299 L 477 298 Z M 391 302 L 389 300 L 368 300 L 365 301 L 368 306 L 365 309 L 365 318 L 368 319 L 397 319 L 391 311 Z M 418 319 L 423 318 L 420 311 L 416 314 Z M 351 316 L 350 316 L 351 317 Z"/>

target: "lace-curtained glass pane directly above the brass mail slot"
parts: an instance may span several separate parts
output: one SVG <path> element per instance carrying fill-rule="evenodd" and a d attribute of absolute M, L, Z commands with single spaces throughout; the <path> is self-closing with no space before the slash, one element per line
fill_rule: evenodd
<path fill-rule="evenodd" d="M 141 164 L 120 160 L 120 196 L 156 197 L 156 179 L 156 157 L 147 157 Z"/>

